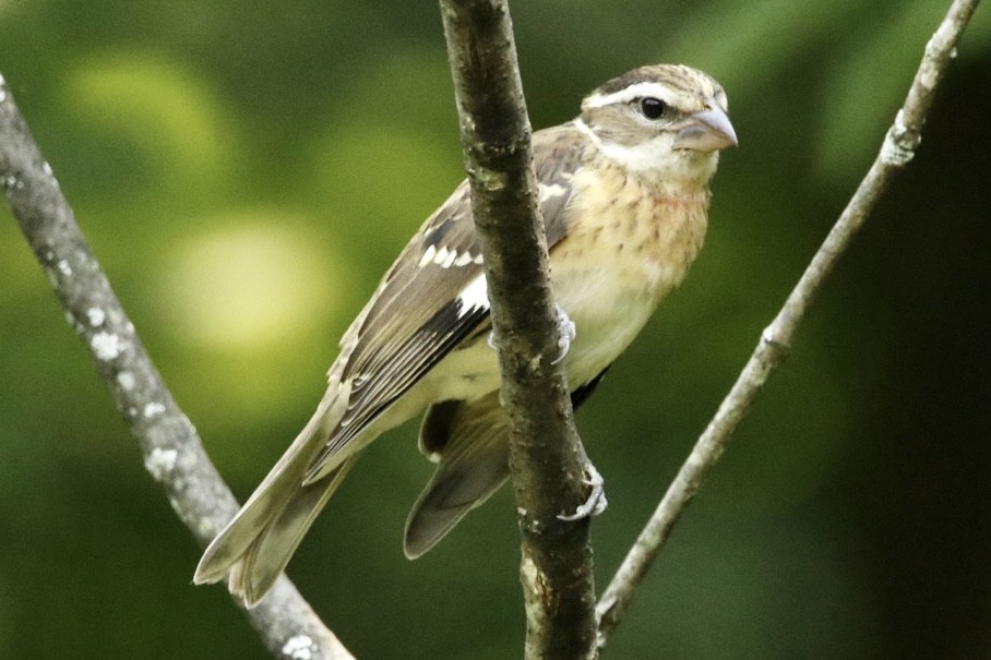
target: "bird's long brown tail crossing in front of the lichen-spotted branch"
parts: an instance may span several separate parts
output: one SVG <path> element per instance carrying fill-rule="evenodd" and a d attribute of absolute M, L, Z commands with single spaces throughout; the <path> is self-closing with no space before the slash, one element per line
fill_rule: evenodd
<path fill-rule="evenodd" d="M 324 478 L 303 485 L 306 472 L 343 416 L 346 397 L 321 403 L 264 481 L 211 542 L 193 581 L 216 583 L 229 574 L 230 592 L 250 608 L 268 592 L 317 514 L 344 480 L 357 455 Z"/>

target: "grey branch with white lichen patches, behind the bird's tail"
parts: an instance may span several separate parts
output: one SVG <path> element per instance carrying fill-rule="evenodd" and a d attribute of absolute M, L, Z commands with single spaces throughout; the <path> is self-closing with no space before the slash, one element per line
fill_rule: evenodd
<path fill-rule="evenodd" d="M 114 295 L 2 76 L 0 188 L 69 324 L 89 349 L 97 373 L 138 439 L 145 468 L 205 547 L 234 516 L 237 502 Z M 313 659 L 351 658 L 285 576 L 247 614 L 276 657 L 300 657 L 308 651 L 307 657 Z"/>

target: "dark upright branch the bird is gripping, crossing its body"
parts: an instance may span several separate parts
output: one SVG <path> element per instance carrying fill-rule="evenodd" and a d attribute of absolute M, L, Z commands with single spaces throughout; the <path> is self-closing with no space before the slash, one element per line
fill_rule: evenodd
<path fill-rule="evenodd" d="M 441 0 L 462 144 L 511 418 L 527 658 L 593 658 L 587 457 L 574 427 L 509 5 Z"/>

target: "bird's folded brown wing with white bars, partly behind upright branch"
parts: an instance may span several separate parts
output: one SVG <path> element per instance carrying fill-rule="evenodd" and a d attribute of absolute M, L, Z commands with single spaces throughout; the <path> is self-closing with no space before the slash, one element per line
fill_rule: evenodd
<path fill-rule="evenodd" d="M 571 177 L 581 165 L 574 149 L 576 136 L 577 131 L 570 123 L 534 134 L 537 180 L 545 187 L 540 207 L 549 247 L 560 241 L 568 229 L 563 212 L 571 199 Z M 441 251 L 449 260 L 452 252 L 455 254 L 446 267 L 442 260 L 434 263 L 423 256 Z M 461 292 L 482 273 L 480 254 L 470 191 L 463 182 L 407 243 L 345 334 L 331 379 L 351 381 L 348 410 L 313 461 L 309 477 L 320 473 L 331 456 L 347 446 L 462 340 L 483 331 L 488 308 L 466 311 L 458 300 Z"/>

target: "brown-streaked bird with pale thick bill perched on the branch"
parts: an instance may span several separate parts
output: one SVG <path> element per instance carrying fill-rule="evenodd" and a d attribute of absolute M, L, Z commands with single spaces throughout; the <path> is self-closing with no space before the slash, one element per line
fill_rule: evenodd
<path fill-rule="evenodd" d="M 684 278 L 705 237 L 719 152 L 732 146 L 723 87 L 682 64 L 613 77 L 575 119 L 533 134 L 575 407 Z M 437 468 L 407 518 L 406 556 L 429 551 L 506 481 L 509 416 L 467 181 L 385 273 L 342 337 L 327 383 L 312 418 L 207 547 L 195 584 L 227 578 L 255 605 L 369 443 L 423 410 L 418 444 Z"/>

